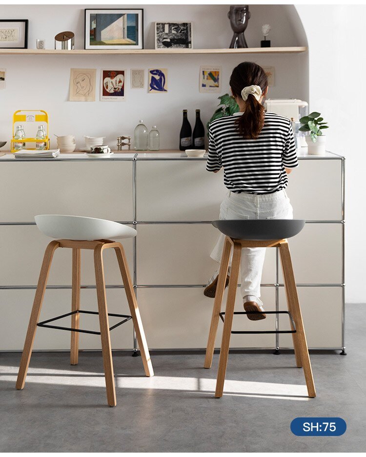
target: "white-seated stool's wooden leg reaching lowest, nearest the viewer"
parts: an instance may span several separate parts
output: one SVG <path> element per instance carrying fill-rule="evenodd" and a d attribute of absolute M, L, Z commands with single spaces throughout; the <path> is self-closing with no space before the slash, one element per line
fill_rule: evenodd
<path fill-rule="evenodd" d="M 94 249 L 95 279 L 97 284 L 99 323 L 101 327 L 102 354 L 105 386 L 107 389 L 107 401 L 109 406 L 116 406 L 116 390 L 114 386 L 113 360 L 111 340 L 109 335 L 107 300 L 105 296 L 102 250 L 103 245 L 99 245 Z"/>

